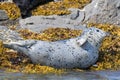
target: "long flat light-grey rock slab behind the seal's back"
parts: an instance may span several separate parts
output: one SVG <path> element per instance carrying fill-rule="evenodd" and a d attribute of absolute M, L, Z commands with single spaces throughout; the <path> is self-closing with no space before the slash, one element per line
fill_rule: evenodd
<path fill-rule="evenodd" d="M 69 15 L 50 15 L 50 16 L 31 16 L 26 19 L 20 19 L 19 24 L 21 28 L 28 28 L 34 32 L 41 32 L 48 28 L 70 28 L 81 29 L 83 26 L 80 24 L 84 20 L 84 11 L 80 9 L 69 9 Z"/>

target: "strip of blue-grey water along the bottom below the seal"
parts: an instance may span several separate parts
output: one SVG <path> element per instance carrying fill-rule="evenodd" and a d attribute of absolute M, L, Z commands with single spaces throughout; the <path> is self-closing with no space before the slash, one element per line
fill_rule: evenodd
<path fill-rule="evenodd" d="M 67 72 L 61 75 L 54 74 L 21 74 L 0 73 L 1 80 L 119 80 L 120 71 L 97 71 L 97 72 Z"/>

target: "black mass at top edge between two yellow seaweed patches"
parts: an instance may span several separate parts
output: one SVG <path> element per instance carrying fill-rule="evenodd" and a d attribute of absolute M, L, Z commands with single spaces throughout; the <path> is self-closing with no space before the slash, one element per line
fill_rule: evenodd
<path fill-rule="evenodd" d="M 31 10 L 35 9 L 38 5 L 43 5 L 54 0 L 13 0 L 13 2 L 20 8 L 21 17 L 27 18 L 32 15 Z M 55 0 L 61 1 L 61 0 Z"/>

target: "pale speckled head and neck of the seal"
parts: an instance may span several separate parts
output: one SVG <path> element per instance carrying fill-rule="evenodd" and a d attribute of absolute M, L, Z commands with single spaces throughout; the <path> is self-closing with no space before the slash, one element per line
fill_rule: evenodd
<path fill-rule="evenodd" d="M 109 33 L 95 27 L 87 28 L 83 34 L 87 36 L 88 42 L 96 47 L 99 47 L 105 36 L 109 35 Z"/>

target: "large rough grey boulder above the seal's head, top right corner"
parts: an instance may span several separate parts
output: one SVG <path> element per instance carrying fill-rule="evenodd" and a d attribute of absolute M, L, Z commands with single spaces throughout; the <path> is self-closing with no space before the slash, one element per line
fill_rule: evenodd
<path fill-rule="evenodd" d="M 120 0 L 92 0 L 83 10 L 84 22 L 120 25 Z"/>

